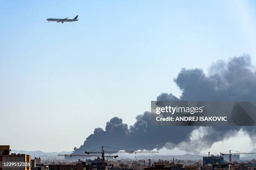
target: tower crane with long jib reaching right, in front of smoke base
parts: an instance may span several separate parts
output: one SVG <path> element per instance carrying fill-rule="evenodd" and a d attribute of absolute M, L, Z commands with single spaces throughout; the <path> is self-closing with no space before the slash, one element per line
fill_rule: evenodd
<path fill-rule="evenodd" d="M 140 150 L 123 150 L 123 149 L 119 149 L 119 148 L 111 148 L 111 149 L 116 149 L 116 150 L 107 151 L 107 150 L 104 150 L 104 147 L 105 148 L 111 148 L 111 147 L 107 147 L 107 146 L 101 146 L 101 150 L 100 151 L 92 150 L 90 152 L 85 151 L 84 153 L 86 153 L 86 154 L 91 154 L 91 153 L 101 154 L 102 163 L 105 162 L 105 157 L 106 157 L 105 153 L 109 153 L 109 154 L 112 154 L 112 153 L 135 153 L 135 154 L 136 153 L 159 153 L 158 151 L 150 151 L 150 150 L 148 150 L 148 151 L 147 150 L 144 150 L 144 151 L 143 150 L 142 151 L 140 151 Z M 96 148 L 96 149 L 98 149 L 98 148 Z"/>

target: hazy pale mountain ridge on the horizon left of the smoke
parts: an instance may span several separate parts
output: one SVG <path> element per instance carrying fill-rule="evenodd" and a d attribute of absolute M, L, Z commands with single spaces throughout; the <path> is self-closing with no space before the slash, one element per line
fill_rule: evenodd
<path fill-rule="evenodd" d="M 26 154 L 31 155 L 31 159 L 34 159 L 35 157 L 40 157 L 41 159 L 64 159 L 63 156 L 58 156 L 58 154 L 71 154 L 72 152 L 42 152 L 41 150 L 36 151 L 26 151 L 26 150 L 11 150 L 11 153 L 20 153 L 20 154 Z"/>

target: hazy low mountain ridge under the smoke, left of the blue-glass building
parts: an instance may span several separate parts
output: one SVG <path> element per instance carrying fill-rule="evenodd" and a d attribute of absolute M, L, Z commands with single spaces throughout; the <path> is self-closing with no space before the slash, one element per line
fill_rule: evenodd
<path fill-rule="evenodd" d="M 202 155 L 192 155 L 192 154 L 184 154 L 184 155 L 152 155 L 152 156 L 138 156 L 137 159 L 151 159 L 151 160 L 202 160 Z"/>

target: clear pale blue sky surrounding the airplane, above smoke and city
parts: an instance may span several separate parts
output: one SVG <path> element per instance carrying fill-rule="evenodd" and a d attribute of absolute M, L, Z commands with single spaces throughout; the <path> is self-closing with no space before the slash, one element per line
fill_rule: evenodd
<path fill-rule="evenodd" d="M 256 64 L 255 10 L 253 0 L 0 1 L 0 144 L 69 151 L 113 116 L 131 125 L 161 92 L 179 96 L 182 67 L 243 53 Z"/>

